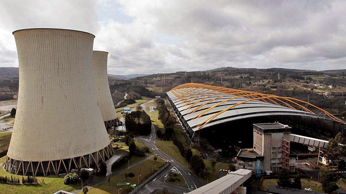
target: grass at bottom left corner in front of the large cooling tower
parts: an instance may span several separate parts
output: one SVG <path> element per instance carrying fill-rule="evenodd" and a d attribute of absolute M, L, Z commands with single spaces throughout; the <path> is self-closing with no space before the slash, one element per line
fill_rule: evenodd
<path fill-rule="evenodd" d="M 4 163 L 6 156 L 0 158 L 1 166 Z M 10 174 L 1 167 L 0 168 L 1 176 L 15 176 L 21 180 L 20 175 Z M 63 184 L 63 176 L 46 176 L 46 177 L 37 177 L 38 180 L 44 180 L 45 184 L 37 184 L 37 185 L 22 185 L 22 184 L 4 184 L 0 183 L 0 193 L 55 193 L 59 190 L 64 191 L 74 191 L 80 189 L 81 184 L 76 183 L 72 185 L 64 185 Z"/>

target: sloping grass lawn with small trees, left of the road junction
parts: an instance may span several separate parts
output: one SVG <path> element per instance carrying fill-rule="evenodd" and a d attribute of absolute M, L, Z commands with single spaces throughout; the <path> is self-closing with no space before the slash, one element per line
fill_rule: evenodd
<path fill-rule="evenodd" d="M 129 170 L 126 170 L 118 175 L 111 176 L 110 178 L 110 186 L 108 185 L 107 181 L 104 181 L 102 183 L 99 183 L 93 187 L 89 188 L 88 194 L 97 193 L 118 193 L 118 189 L 121 188 L 120 193 L 129 193 L 133 190 L 130 185 L 122 185 L 118 186 L 117 183 L 119 182 L 128 182 L 130 184 L 138 184 L 138 175 L 142 175 L 139 177 L 139 183 L 143 182 L 146 178 L 152 175 L 152 166 L 153 164 L 156 164 L 156 167 L 160 167 L 164 164 L 164 161 L 157 157 L 157 161 L 155 163 L 153 158 L 148 159 L 145 162 L 142 162 Z M 155 170 L 155 169 L 154 169 Z M 125 173 L 134 173 L 134 177 L 128 177 L 127 180 L 124 177 Z"/>

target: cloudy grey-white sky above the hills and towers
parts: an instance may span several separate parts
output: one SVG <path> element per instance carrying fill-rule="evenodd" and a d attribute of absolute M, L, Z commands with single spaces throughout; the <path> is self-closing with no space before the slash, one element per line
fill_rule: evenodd
<path fill-rule="evenodd" d="M 111 74 L 344 69 L 345 10 L 346 1 L 1 0 L 0 67 L 18 67 L 12 31 L 67 28 L 96 36 Z"/>

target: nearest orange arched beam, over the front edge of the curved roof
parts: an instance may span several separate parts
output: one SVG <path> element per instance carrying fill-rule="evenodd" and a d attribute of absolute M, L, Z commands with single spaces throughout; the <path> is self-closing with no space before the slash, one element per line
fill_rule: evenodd
<path fill-rule="evenodd" d="M 273 97 L 272 97 L 272 96 L 266 96 L 266 97 L 261 97 L 261 98 L 264 99 L 264 98 L 273 98 Z M 310 103 L 307 103 L 307 102 L 305 102 L 305 101 L 303 101 L 303 100 L 298 100 L 298 99 L 291 98 L 291 97 L 280 97 L 280 96 L 277 96 L 277 97 L 275 97 L 275 98 L 283 98 L 283 99 L 297 100 L 297 101 L 299 101 L 299 102 L 301 102 L 301 103 L 309 104 L 309 105 L 311 105 L 311 106 L 313 106 L 313 107 L 315 107 L 315 108 L 321 110 L 321 111 L 324 112 L 326 115 L 331 115 L 331 114 L 328 113 L 327 111 L 325 111 L 325 110 L 323 110 L 323 109 L 321 109 L 321 108 L 319 108 L 319 107 L 317 107 L 317 106 L 315 106 L 315 105 L 312 105 L 312 104 L 310 104 Z M 201 129 L 204 125 L 207 125 L 212 119 L 214 119 L 214 118 L 217 117 L 218 115 L 220 115 L 220 114 L 226 112 L 227 110 L 229 110 L 229 109 L 231 109 L 231 108 L 233 108 L 233 107 L 235 107 L 235 106 L 237 106 L 237 105 L 247 103 L 248 101 L 251 101 L 251 100 L 257 100 L 257 99 L 254 98 L 254 99 L 249 99 L 249 100 L 243 101 L 243 102 L 241 102 L 241 103 L 232 105 L 232 106 L 230 106 L 230 107 L 228 107 L 228 108 L 226 108 L 226 109 L 220 111 L 219 113 L 214 114 L 213 116 L 209 117 L 208 119 L 204 120 L 202 123 L 200 123 L 199 125 L 197 125 L 198 129 Z M 331 117 L 331 116 L 332 116 L 332 117 Z M 329 116 L 329 117 L 334 118 L 334 119 L 338 120 L 338 121 L 341 122 L 341 123 L 344 123 L 343 120 L 340 120 L 340 119 L 336 118 L 334 115 L 331 115 L 331 116 Z"/>

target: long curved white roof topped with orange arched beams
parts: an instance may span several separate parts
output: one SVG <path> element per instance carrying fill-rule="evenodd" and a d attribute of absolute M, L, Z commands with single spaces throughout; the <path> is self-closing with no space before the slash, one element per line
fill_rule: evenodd
<path fill-rule="evenodd" d="M 228 121 L 271 115 L 300 115 L 344 123 L 321 108 L 290 97 L 193 83 L 177 86 L 167 95 L 180 121 L 193 132 Z"/>

